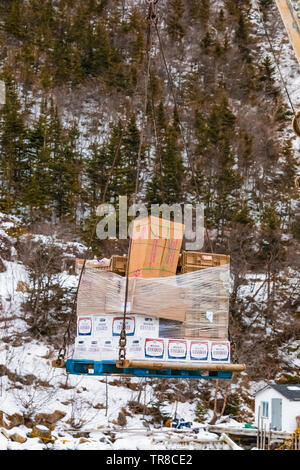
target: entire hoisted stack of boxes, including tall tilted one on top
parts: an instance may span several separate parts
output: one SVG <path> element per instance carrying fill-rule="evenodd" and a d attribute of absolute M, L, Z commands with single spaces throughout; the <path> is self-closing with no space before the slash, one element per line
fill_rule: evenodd
<path fill-rule="evenodd" d="M 128 266 L 125 256 L 86 263 L 78 293 L 75 359 L 118 358 L 128 268 L 127 359 L 230 361 L 229 257 L 180 255 L 183 231 L 182 224 L 156 217 L 136 220 Z M 77 269 L 82 265 L 79 260 Z M 178 266 L 183 274 L 176 276 Z"/>

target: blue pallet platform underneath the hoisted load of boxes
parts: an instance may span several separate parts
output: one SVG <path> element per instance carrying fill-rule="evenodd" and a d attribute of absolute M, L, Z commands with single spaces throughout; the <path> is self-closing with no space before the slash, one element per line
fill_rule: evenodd
<path fill-rule="evenodd" d="M 154 377 L 165 379 L 231 379 L 232 371 L 201 371 L 197 370 L 176 370 L 176 369 L 141 369 L 128 368 L 120 369 L 116 366 L 116 361 L 89 361 L 86 359 L 68 359 L 66 371 L 75 375 L 121 375 L 130 377 Z"/>

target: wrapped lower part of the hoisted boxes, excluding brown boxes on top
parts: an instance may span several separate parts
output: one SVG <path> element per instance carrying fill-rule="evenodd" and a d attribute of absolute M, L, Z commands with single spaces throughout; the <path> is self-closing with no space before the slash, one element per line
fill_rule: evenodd
<path fill-rule="evenodd" d="M 110 350 L 115 359 L 125 288 L 126 279 L 118 274 L 92 268 L 84 271 L 77 303 L 80 358 L 83 348 L 85 359 L 91 359 L 91 349 L 84 349 L 86 342 L 103 340 L 99 360 L 107 360 Z M 164 278 L 130 277 L 125 319 L 127 340 L 135 341 L 130 358 L 136 350 L 138 360 L 211 361 L 210 342 L 227 344 L 228 310 L 229 264 Z M 207 353 L 201 355 L 200 350 Z M 219 359 L 228 362 L 229 354 Z"/>

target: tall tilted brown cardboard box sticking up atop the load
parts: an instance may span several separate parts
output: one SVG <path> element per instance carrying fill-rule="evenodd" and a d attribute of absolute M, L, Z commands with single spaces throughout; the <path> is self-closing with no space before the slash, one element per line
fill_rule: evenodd
<path fill-rule="evenodd" d="M 133 223 L 128 274 L 154 278 L 174 276 L 180 254 L 184 225 L 147 217 Z"/>

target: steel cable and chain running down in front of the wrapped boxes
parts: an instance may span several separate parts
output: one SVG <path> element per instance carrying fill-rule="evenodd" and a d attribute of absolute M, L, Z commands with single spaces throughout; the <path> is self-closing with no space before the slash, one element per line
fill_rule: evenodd
<path fill-rule="evenodd" d="M 149 88 L 149 79 L 150 79 L 150 63 L 151 63 L 151 48 L 152 48 L 152 31 L 157 23 L 157 4 L 159 0 L 147 0 L 148 13 L 147 13 L 147 45 L 146 45 L 146 77 L 145 77 L 145 97 L 144 97 L 144 110 L 143 110 L 143 122 L 141 125 L 140 139 L 139 139 L 139 148 L 137 156 L 137 170 L 136 170 L 136 182 L 135 182 L 135 192 L 133 194 L 133 204 L 136 204 L 136 198 L 139 191 L 139 178 L 140 178 L 140 166 L 141 166 L 141 156 L 144 143 L 144 133 L 146 128 L 146 114 L 147 114 L 147 104 L 148 104 L 148 88 Z M 127 313 L 127 303 L 128 303 L 128 289 L 129 289 L 129 263 L 131 257 L 131 247 L 132 243 L 129 242 L 128 249 L 128 258 L 126 266 L 126 276 L 125 276 L 125 301 L 124 301 L 124 311 L 123 311 L 123 322 L 122 329 L 120 332 L 119 340 L 119 361 L 124 364 L 126 359 L 126 313 Z M 121 364 L 120 364 L 121 365 Z"/>

